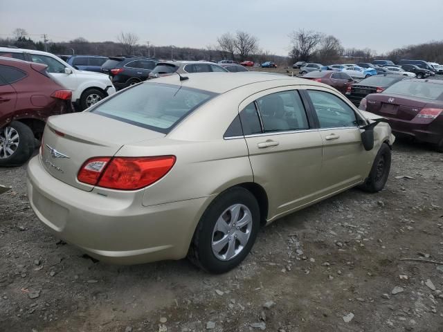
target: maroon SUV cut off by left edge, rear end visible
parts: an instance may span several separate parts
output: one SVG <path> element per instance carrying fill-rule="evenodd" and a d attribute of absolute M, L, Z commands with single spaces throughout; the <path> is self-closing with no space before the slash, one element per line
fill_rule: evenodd
<path fill-rule="evenodd" d="M 46 73 L 45 64 L 0 57 L 0 166 L 33 154 L 46 118 L 71 112 L 71 90 Z"/>

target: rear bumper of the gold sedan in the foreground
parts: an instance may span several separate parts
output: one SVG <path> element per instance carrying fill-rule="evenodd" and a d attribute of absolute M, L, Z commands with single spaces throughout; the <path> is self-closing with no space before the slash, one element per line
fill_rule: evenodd
<path fill-rule="evenodd" d="M 37 217 L 57 237 L 111 264 L 186 257 L 212 196 L 145 207 L 141 196 L 101 196 L 53 178 L 39 156 L 28 164 L 28 196 Z"/>

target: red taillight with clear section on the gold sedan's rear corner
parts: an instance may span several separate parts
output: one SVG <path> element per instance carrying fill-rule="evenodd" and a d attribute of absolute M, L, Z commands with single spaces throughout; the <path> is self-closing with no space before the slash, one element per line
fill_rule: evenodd
<path fill-rule="evenodd" d="M 175 163 L 175 156 L 91 158 L 78 181 L 117 190 L 137 190 L 159 181 Z"/>

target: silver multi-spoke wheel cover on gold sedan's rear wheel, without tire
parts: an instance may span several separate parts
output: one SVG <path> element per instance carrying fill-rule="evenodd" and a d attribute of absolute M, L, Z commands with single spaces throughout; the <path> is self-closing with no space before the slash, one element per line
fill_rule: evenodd
<path fill-rule="evenodd" d="M 243 204 L 224 210 L 215 223 L 212 237 L 213 254 L 221 261 L 233 259 L 246 247 L 251 236 L 251 211 Z"/>

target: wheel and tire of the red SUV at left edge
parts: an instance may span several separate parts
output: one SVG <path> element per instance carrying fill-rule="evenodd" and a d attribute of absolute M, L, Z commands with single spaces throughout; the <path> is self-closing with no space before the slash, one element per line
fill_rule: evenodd
<path fill-rule="evenodd" d="M 0 129 L 0 166 L 23 165 L 33 155 L 34 149 L 34 133 L 26 124 L 12 121 Z"/>

